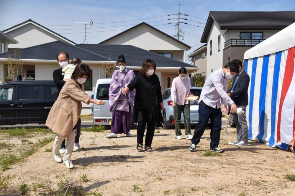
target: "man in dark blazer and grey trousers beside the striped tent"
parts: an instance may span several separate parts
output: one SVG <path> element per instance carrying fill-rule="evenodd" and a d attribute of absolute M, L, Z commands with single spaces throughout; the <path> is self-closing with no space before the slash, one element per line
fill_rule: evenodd
<path fill-rule="evenodd" d="M 246 121 L 246 107 L 248 105 L 248 87 L 250 77 L 248 73 L 243 70 L 243 64 L 240 60 L 233 60 L 240 68 L 240 72 L 235 75 L 232 82 L 232 87 L 227 91 L 227 95 L 237 105 L 237 108 L 242 108 L 244 113 L 237 115 L 232 113 L 233 120 L 237 127 L 237 139 L 228 144 L 236 146 L 246 146 L 248 144 L 248 124 Z"/>

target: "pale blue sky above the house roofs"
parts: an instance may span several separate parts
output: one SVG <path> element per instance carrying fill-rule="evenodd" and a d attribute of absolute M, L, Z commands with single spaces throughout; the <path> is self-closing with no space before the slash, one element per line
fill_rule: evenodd
<path fill-rule="evenodd" d="M 0 0 L 0 30 L 3 31 L 12 25 L 32 19 L 76 43 L 83 43 L 84 26 L 76 25 L 75 22 L 87 22 L 92 19 L 94 24 L 86 27 L 89 32 L 86 37 L 88 43 L 99 43 L 143 21 L 173 36 L 176 35 L 176 27 L 168 23 L 176 22 L 176 20 L 168 19 L 176 18 L 176 16 L 167 15 L 177 14 L 178 3 L 182 4 L 180 12 L 189 15 L 182 16 L 189 20 L 186 21 L 189 25 L 181 24 L 182 31 L 186 33 L 183 34 L 184 40 L 181 41 L 192 46 L 187 55 L 201 46 L 200 38 L 204 30 L 202 27 L 206 24 L 209 11 L 285 11 L 295 7 L 294 0 Z M 146 19 L 151 17 L 157 18 Z M 184 20 L 181 21 L 184 22 Z"/>

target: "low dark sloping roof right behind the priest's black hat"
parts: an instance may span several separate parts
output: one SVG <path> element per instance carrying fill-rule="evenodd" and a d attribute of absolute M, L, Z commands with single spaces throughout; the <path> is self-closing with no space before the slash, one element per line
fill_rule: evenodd
<path fill-rule="evenodd" d="M 142 62 L 145 59 L 150 58 L 155 61 L 157 67 L 197 68 L 188 63 L 168 58 L 132 45 L 78 44 L 77 46 L 116 60 L 119 54 L 123 54 L 127 62 L 127 67 L 141 67 Z"/>

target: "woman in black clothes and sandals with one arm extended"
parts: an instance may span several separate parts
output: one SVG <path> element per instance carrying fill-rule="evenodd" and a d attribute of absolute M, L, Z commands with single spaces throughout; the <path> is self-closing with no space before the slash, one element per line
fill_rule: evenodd
<path fill-rule="evenodd" d="M 127 91 L 136 89 L 131 123 L 138 123 L 137 150 L 142 150 L 145 125 L 148 124 L 145 136 L 145 150 L 148 152 L 153 151 L 151 145 L 155 133 L 155 124 L 163 123 L 163 116 L 160 112 L 164 108 L 161 86 L 155 70 L 156 63 L 151 59 L 146 59 L 142 63 L 140 74 L 122 90 L 122 93 L 126 94 Z"/>

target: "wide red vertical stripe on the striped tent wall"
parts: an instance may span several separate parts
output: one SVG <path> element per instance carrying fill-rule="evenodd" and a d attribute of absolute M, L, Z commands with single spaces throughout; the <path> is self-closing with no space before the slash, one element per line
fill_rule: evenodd
<path fill-rule="evenodd" d="M 280 105 L 278 109 L 278 128 L 277 128 L 277 140 L 278 142 L 281 141 L 281 115 L 282 115 L 282 107 L 284 100 L 286 98 L 286 94 L 288 92 L 288 89 L 290 87 L 293 72 L 294 72 L 294 58 L 295 58 L 295 47 L 289 48 L 288 50 L 288 56 L 286 61 L 286 68 L 285 68 L 285 74 L 283 79 L 283 85 L 282 85 L 282 92 L 281 92 L 281 99 L 280 99 Z"/>

